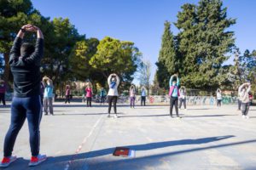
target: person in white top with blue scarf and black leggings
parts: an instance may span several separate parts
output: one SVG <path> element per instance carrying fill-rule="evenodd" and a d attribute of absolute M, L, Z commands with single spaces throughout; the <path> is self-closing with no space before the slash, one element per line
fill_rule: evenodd
<path fill-rule="evenodd" d="M 118 87 L 120 79 L 116 74 L 111 74 L 108 77 L 108 117 L 110 117 L 110 111 L 113 103 L 114 117 L 117 118 L 116 103 L 119 96 Z"/>

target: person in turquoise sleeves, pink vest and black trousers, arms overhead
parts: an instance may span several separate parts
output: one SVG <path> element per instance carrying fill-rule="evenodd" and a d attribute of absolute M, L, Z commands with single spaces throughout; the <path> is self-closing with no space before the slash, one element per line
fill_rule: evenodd
<path fill-rule="evenodd" d="M 176 77 L 176 80 L 174 80 L 174 77 Z M 172 75 L 172 77 L 170 78 L 170 91 L 169 91 L 169 96 L 170 96 L 170 116 L 172 116 L 172 108 L 173 105 L 175 105 L 175 111 L 176 111 L 176 115 L 178 118 L 181 118 L 180 116 L 178 116 L 178 110 L 177 110 L 177 101 L 178 101 L 178 97 L 179 97 L 179 90 L 178 90 L 178 86 L 179 86 L 179 78 L 177 77 L 177 74 Z"/>

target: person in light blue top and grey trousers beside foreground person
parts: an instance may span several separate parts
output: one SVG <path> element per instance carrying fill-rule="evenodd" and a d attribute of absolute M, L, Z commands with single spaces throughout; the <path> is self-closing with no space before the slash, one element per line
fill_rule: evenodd
<path fill-rule="evenodd" d="M 53 113 L 53 83 L 49 77 L 43 78 L 44 84 L 44 115 L 48 115 L 48 111 L 50 115 L 54 115 Z"/>

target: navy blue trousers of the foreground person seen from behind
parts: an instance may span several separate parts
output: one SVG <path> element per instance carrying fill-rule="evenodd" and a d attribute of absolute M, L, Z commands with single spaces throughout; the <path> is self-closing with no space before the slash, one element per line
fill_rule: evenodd
<path fill-rule="evenodd" d="M 41 109 L 41 99 L 39 95 L 27 98 L 14 97 L 11 105 L 11 122 L 4 139 L 4 156 L 12 155 L 15 140 L 26 119 L 29 127 L 29 142 L 32 156 L 38 156 L 40 146 L 39 126 L 42 118 Z"/>

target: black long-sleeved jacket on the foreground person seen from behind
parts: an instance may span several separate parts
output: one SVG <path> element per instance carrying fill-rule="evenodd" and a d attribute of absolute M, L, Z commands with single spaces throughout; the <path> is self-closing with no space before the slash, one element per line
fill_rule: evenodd
<path fill-rule="evenodd" d="M 15 38 L 9 65 L 14 76 L 15 97 L 26 98 L 40 94 L 40 63 L 44 54 L 44 39 L 38 38 L 31 55 L 20 56 L 22 39 Z"/>

